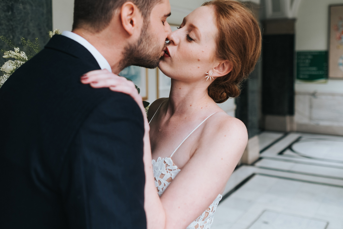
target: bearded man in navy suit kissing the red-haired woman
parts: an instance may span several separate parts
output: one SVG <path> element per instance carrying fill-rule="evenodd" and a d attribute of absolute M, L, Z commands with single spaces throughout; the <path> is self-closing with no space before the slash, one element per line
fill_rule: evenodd
<path fill-rule="evenodd" d="M 0 228 L 146 228 L 142 112 L 93 89 L 91 70 L 154 68 L 168 0 L 75 0 L 55 35 L 0 89 Z"/>

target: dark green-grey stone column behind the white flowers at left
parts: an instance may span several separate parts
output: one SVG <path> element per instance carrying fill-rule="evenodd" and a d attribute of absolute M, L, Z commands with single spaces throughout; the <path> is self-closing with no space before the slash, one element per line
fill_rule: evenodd
<path fill-rule="evenodd" d="M 51 0 L 1 0 L 0 35 L 20 45 L 22 37 L 33 41 L 38 37 L 41 48 L 49 41 L 52 29 Z M 0 41 L 0 49 L 9 49 Z M 13 48 L 11 48 L 13 50 Z M 2 55 L 1 55 L 2 56 Z M 1 58 L 2 65 L 6 60 Z"/>

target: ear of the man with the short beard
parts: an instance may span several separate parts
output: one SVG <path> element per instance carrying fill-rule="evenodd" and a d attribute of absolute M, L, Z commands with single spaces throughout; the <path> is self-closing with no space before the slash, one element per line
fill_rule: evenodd
<path fill-rule="evenodd" d="M 142 14 L 132 2 L 125 2 L 122 5 L 120 16 L 122 26 L 130 36 L 141 30 Z"/>

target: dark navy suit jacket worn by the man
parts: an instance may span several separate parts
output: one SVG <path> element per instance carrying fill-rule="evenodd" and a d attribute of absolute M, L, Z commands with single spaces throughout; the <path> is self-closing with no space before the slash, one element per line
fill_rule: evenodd
<path fill-rule="evenodd" d="M 96 69 L 55 35 L 0 88 L 0 228 L 146 228 L 143 115 Z"/>

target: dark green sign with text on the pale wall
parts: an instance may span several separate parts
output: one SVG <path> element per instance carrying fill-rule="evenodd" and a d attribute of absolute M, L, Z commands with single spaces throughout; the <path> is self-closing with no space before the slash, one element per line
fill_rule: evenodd
<path fill-rule="evenodd" d="M 328 51 L 298 51 L 297 79 L 323 81 L 328 79 Z"/>

